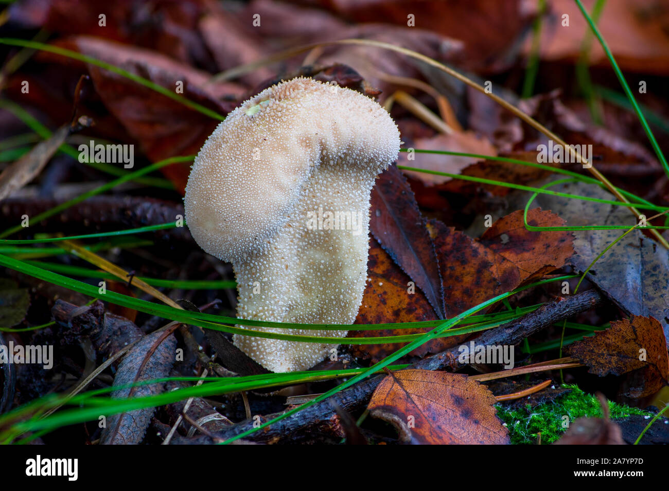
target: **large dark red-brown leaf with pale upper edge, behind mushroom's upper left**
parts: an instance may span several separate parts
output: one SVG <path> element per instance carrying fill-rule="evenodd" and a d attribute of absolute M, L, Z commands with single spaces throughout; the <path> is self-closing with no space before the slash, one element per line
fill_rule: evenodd
<path fill-rule="evenodd" d="M 225 116 L 236 102 L 221 102 L 219 98 L 226 94 L 242 94 L 242 89 L 234 84 L 207 85 L 209 76 L 204 72 L 137 47 L 87 36 L 68 38 L 55 44 L 121 66 L 169 90 L 175 90 L 177 82 L 182 82 L 183 94 L 179 95 L 221 116 Z M 62 62 L 62 57 L 55 59 Z M 116 116 L 128 134 L 140 142 L 143 153 L 151 161 L 197 153 L 220 122 L 128 78 L 94 65 L 86 67 L 106 108 Z M 177 189 L 183 191 L 189 164 L 170 165 L 162 171 Z"/>

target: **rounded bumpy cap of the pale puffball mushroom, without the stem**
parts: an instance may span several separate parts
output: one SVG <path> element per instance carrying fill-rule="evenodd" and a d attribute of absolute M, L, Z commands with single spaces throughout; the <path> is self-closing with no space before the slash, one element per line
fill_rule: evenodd
<path fill-rule="evenodd" d="M 281 82 L 207 138 L 186 186 L 186 221 L 203 250 L 233 262 L 284 226 L 314 166 L 341 164 L 358 179 L 398 152 L 397 126 L 370 98 L 310 78 Z"/>

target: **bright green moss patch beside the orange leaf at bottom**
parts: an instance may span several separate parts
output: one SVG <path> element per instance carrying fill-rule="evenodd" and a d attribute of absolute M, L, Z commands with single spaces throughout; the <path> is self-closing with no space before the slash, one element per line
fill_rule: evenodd
<path fill-rule="evenodd" d="M 537 444 L 537 436 L 541 433 L 541 443 L 551 444 L 567 431 L 563 427 L 564 416 L 569 416 L 571 424 L 578 417 L 602 417 L 601 405 L 594 395 L 586 394 L 576 385 L 563 385 L 571 392 L 557 397 L 555 400 L 536 407 L 527 405 L 524 409 L 507 409 L 497 404 L 497 415 L 506 423 L 511 444 Z M 611 419 L 632 414 L 652 415 L 636 407 L 617 404 L 609 401 Z"/>

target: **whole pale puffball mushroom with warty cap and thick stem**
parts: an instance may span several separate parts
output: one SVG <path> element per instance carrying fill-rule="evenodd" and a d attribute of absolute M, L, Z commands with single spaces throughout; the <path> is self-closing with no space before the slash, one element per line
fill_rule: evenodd
<path fill-rule="evenodd" d="M 184 201 L 195 241 L 233 265 L 237 317 L 353 323 L 367 280 L 369 195 L 398 152 L 397 125 L 377 102 L 310 78 L 228 114 L 195 158 Z M 234 343 L 275 372 L 308 369 L 337 347 L 239 334 Z"/>

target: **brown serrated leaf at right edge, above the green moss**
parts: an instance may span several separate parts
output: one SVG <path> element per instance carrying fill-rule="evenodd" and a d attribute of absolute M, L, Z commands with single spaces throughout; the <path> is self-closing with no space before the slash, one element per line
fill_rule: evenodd
<path fill-rule="evenodd" d="M 626 395 L 634 399 L 656 393 L 669 381 L 664 330 L 653 317 L 633 315 L 611 322 L 608 329 L 568 346 L 567 354 L 600 377 L 639 371 L 628 380 L 632 383 Z"/>

